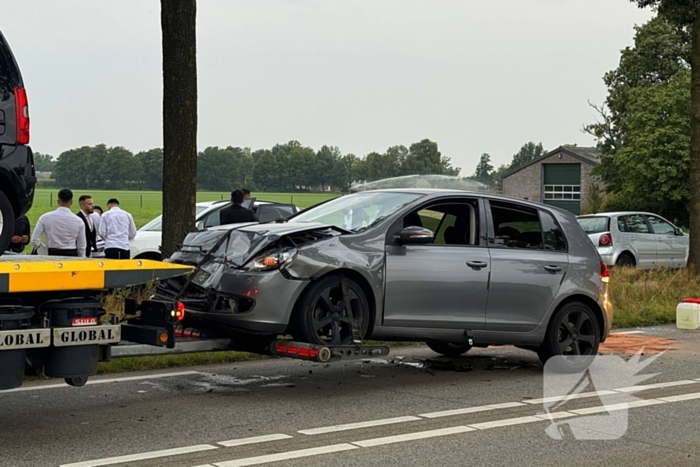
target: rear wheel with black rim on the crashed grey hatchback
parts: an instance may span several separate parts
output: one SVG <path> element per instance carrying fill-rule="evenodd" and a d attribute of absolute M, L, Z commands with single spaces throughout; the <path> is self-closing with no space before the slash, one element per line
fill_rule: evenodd
<path fill-rule="evenodd" d="M 552 317 L 537 356 L 546 371 L 579 373 L 593 362 L 599 345 L 600 326 L 593 310 L 571 302 Z"/>

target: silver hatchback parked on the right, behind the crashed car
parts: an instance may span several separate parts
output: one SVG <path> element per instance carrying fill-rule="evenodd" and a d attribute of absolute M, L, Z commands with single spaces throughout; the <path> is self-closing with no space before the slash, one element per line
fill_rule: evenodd
<path fill-rule="evenodd" d="M 578 223 L 608 266 L 682 268 L 688 264 L 688 235 L 647 212 L 579 216 Z"/>

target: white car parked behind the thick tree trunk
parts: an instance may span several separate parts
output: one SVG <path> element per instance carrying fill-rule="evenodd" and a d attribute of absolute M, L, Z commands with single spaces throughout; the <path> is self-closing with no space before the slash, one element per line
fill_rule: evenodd
<path fill-rule="evenodd" d="M 196 204 L 196 222 L 200 230 L 221 225 L 219 215 L 221 210 L 230 206 L 230 201 L 206 201 Z M 246 203 L 244 203 L 244 206 Z M 293 204 L 273 203 L 270 201 L 253 200 L 253 210 L 260 222 L 273 221 L 280 217 L 289 217 L 299 212 Z M 161 236 L 163 216 L 160 215 L 141 227 L 136 238 L 131 241 L 131 257 L 133 259 L 161 260 Z"/>

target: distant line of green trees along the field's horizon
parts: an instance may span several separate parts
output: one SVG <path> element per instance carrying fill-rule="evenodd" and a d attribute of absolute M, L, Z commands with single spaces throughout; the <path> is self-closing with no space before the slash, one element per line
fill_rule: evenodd
<path fill-rule="evenodd" d="M 38 171 L 50 171 L 56 185 L 72 188 L 161 190 L 163 151 L 133 154 L 123 147 L 83 146 L 57 158 L 35 154 Z M 228 191 L 246 187 L 256 191 L 343 191 L 355 182 L 411 174 L 459 175 L 437 143 L 424 139 L 392 146 L 365 157 L 343 154 L 338 147 L 319 150 L 297 141 L 271 149 L 208 147 L 199 153 L 200 190 Z"/>

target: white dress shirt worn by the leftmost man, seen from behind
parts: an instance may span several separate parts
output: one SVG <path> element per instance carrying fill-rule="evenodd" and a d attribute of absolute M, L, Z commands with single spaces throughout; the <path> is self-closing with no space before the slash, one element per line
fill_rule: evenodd
<path fill-rule="evenodd" d="M 46 235 L 47 248 L 77 249 L 79 256 L 85 256 L 87 248 L 85 224 L 64 206 L 43 214 L 37 221 L 32 236 L 32 243 L 37 248 L 41 246 L 42 235 Z"/>

